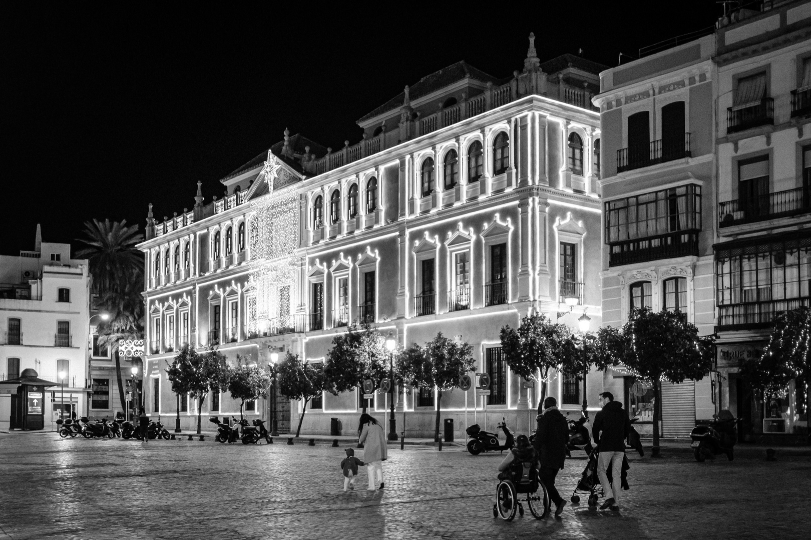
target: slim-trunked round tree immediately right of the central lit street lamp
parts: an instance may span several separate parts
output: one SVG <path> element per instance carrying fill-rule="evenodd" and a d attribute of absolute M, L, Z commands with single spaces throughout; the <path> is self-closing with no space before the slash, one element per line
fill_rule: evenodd
<path fill-rule="evenodd" d="M 473 347 L 469 343 L 453 341 L 436 334 L 425 347 L 416 343 L 401 353 L 397 364 L 405 381 L 411 387 L 436 390 L 436 423 L 434 441 L 440 440 L 442 392 L 459 384 L 461 376 L 474 371 Z"/>

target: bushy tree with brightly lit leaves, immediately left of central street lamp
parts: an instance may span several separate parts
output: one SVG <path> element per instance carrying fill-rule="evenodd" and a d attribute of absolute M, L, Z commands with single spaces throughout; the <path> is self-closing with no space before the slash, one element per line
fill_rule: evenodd
<path fill-rule="evenodd" d="M 324 365 L 325 390 L 333 395 L 362 388 L 363 381 L 372 382 L 372 393 L 380 389 L 380 382 L 388 379 L 388 351 L 386 338 L 375 325 L 350 325 L 345 334 L 333 338 L 333 347 L 327 353 Z M 363 400 L 366 412 L 368 400 Z"/>

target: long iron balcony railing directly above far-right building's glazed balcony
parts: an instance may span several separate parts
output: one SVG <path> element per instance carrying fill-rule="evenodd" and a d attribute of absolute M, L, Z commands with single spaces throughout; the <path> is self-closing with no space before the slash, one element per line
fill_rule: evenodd
<path fill-rule="evenodd" d="M 751 199 L 719 202 L 719 227 L 777 219 L 811 211 L 811 189 L 804 181 L 801 188 L 766 193 Z"/>

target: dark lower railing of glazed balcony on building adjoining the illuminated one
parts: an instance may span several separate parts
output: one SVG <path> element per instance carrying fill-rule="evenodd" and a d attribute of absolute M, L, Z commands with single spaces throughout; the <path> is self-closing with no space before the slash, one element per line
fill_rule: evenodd
<path fill-rule="evenodd" d="M 611 242 L 608 266 L 629 265 L 635 262 L 656 261 L 671 257 L 697 256 L 698 233 L 697 229 L 689 229 L 658 236 Z"/>

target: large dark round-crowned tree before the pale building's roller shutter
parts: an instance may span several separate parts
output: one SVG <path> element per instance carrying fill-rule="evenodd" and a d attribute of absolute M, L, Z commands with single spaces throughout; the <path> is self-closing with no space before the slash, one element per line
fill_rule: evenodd
<path fill-rule="evenodd" d="M 699 336 L 683 313 L 642 308 L 633 310 L 620 333 L 607 336 L 605 347 L 616 364 L 653 387 L 654 447 L 658 447 L 662 381 L 703 379 L 712 368 L 714 336 Z"/>

